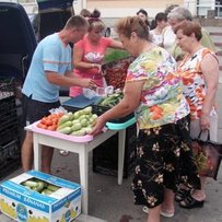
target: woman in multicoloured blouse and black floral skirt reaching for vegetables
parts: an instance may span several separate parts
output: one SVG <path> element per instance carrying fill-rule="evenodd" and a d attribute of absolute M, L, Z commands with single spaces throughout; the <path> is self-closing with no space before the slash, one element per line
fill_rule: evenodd
<path fill-rule="evenodd" d="M 92 133 L 101 132 L 109 119 L 135 110 L 139 131 L 132 183 L 135 200 L 149 208 L 147 222 L 160 222 L 160 214 L 174 215 L 174 191 L 179 176 L 187 178 L 190 186 L 200 187 L 188 149 L 189 107 L 175 72 L 175 60 L 149 42 L 145 23 L 138 16 L 121 19 L 117 33 L 124 47 L 137 58 L 128 68 L 122 101 L 98 117 Z M 180 152 L 185 150 L 186 160 L 182 161 Z M 190 168 L 182 173 L 180 163 L 185 162 Z"/>

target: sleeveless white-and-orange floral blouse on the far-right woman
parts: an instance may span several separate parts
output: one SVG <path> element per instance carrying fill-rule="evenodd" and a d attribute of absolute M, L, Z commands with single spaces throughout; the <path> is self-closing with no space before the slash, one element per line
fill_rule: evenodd
<path fill-rule="evenodd" d="M 178 73 L 183 80 L 184 95 L 189 103 L 191 119 L 199 119 L 205 102 L 207 87 L 200 62 L 207 54 L 215 56 L 212 50 L 201 48 L 191 58 L 186 56 L 178 66 Z M 214 107 L 212 108 L 212 112 L 215 112 Z"/>

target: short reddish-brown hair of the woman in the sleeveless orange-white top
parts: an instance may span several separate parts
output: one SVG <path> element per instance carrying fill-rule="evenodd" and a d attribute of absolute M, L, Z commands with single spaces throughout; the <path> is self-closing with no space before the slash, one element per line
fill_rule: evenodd
<path fill-rule="evenodd" d="M 183 31 L 183 34 L 186 36 L 190 36 L 192 33 L 197 40 L 200 40 L 202 37 L 201 26 L 197 22 L 184 21 L 175 26 L 174 33 L 176 34 L 179 30 Z"/>

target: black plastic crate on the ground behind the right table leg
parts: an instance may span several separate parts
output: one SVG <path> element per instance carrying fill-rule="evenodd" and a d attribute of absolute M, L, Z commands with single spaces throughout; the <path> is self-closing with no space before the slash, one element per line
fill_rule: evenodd
<path fill-rule="evenodd" d="M 132 125 L 126 130 L 124 178 L 128 178 L 135 170 L 137 152 L 137 127 Z M 113 136 L 93 150 L 93 171 L 110 176 L 118 174 L 118 135 Z"/>

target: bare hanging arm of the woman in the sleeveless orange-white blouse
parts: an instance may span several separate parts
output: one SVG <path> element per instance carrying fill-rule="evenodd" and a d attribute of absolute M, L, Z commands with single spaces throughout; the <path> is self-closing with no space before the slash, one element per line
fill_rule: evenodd
<path fill-rule="evenodd" d="M 207 54 L 203 57 L 200 66 L 207 86 L 202 114 L 200 117 L 200 127 L 201 129 L 206 129 L 210 127 L 210 112 L 215 101 L 215 94 L 219 84 L 219 62 L 213 55 Z"/>

